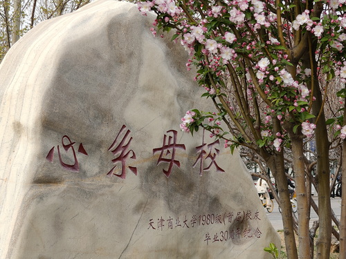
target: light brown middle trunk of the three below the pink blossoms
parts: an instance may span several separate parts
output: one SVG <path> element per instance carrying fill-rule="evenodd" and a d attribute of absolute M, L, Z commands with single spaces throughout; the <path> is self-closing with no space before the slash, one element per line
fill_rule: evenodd
<path fill-rule="evenodd" d="M 298 204 L 298 244 L 299 258 L 310 258 L 309 209 L 306 178 L 304 170 L 304 149 L 302 136 L 295 135 L 292 140 L 295 192 Z"/>

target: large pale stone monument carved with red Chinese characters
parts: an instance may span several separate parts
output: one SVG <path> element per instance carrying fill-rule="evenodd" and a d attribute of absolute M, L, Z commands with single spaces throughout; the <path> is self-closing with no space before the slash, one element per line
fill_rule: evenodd
<path fill-rule="evenodd" d="M 179 131 L 178 44 L 131 3 L 44 21 L 0 67 L 0 258 L 271 258 L 239 155 Z"/>

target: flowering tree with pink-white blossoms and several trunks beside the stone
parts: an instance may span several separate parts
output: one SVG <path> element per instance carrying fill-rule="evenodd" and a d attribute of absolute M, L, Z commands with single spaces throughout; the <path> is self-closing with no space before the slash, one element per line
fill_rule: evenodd
<path fill-rule="evenodd" d="M 329 258 L 329 147 L 345 143 L 346 126 L 343 107 L 327 117 L 325 104 L 330 98 L 345 99 L 345 0 L 152 0 L 140 1 L 138 9 L 143 15 L 156 13 L 154 35 L 175 29 L 172 40 L 191 55 L 186 66 L 197 69 L 195 79 L 206 89 L 202 96 L 217 108 L 218 113 L 188 111 L 181 129 L 205 128 L 231 150 L 245 146 L 262 157 L 278 186 L 288 258 L 313 257 L 309 183 L 316 182 L 316 258 Z M 305 155 L 313 139 L 316 178 Z M 295 172 L 299 252 L 285 175 L 287 150 Z"/>

